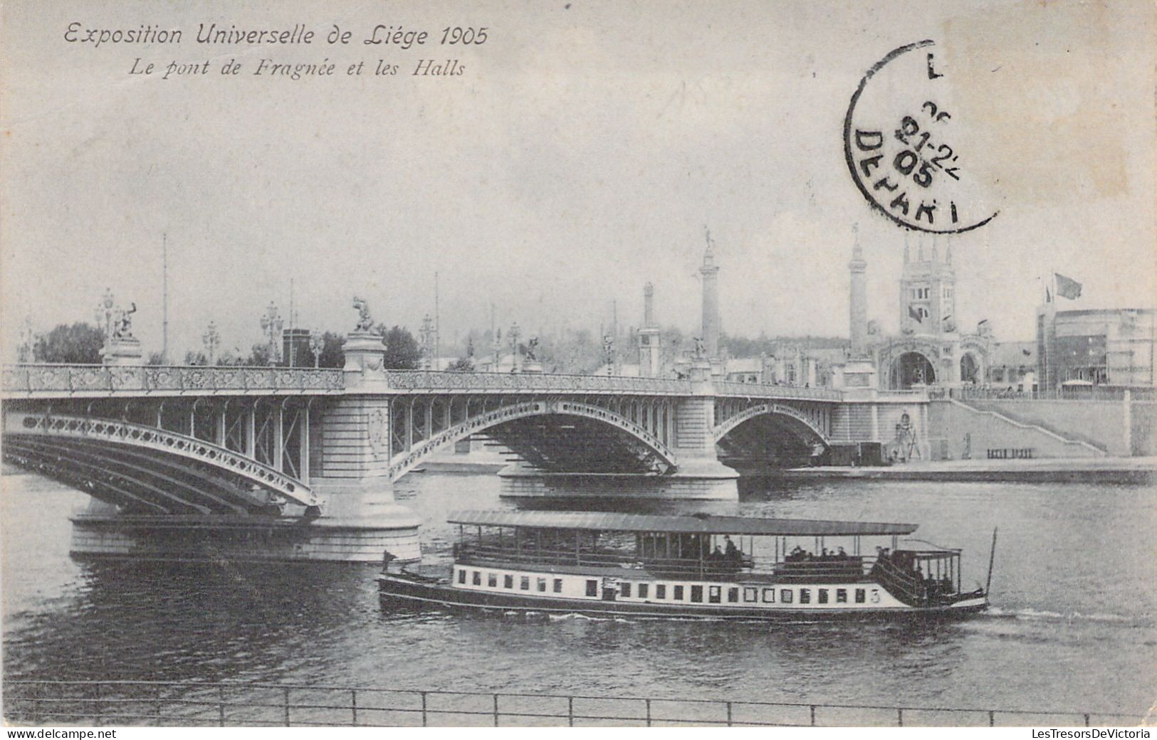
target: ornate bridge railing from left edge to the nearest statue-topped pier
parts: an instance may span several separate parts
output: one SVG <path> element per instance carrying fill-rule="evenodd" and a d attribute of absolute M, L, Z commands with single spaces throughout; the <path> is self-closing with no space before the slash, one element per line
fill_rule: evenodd
<path fill-rule="evenodd" d="M 120 393 L 341 393 L 341 370 L 227 365 L 5 365 L 6 395 L 117 395 Z"/>

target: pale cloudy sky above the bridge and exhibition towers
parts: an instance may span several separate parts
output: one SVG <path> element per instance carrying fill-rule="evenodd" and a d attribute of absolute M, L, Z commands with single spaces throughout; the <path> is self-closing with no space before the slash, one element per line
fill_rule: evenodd
<path fill-rule="evenodd" d="M 907 232 L 872 212 L 843 161 L 865 71 L 934 39 L 966 132 L 968 172 L 1000 209 L 951 245 L 961 327 L 1033 335 L 1040 278 L 1081 281 L 1062 308 L 1151 306 L 1154 49 L 1149 2 L 7 2 L 0 8 L 0 342 L 29 317 L 93 320 L 134 302 L 170 357 L 261 340 L 271 301 L 297 326 L 376 320 L 445 343 L 661 323 L 693 332 L 705 228 L 734 334 L 848 333 L 854 239 L 869 317 L 899 324 Z M 180 44 L 65 40 L 81 28 L 183 30 Z M 204 45 L 200 23 L 316 32 L 310 45 Z M 401 50 L 375 24 L 429 31 Z M 324 43 L 337 24 L 349 44 Z M 487 28 L 443 46 L 443 28 Z M 156 65 L 130 74 L 134 61 Z M 241 73 L 220 67 L 239 61 Z M 260 59 L 334 76 L 253 75 Z M 392 76 L 370 74 L 378 60 Z M 456 59 L 456 76 L 413 76 Z M 161 79 L 170 62 L 207 75 Z M 364 61 L 362 75 L 346 69 Z M 854 228 L 858 230 L 855 236 Z"/>

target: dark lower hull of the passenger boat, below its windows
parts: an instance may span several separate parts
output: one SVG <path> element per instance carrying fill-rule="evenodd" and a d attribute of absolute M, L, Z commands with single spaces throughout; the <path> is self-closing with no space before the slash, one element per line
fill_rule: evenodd
<path fill-rule="evenodd" d="M 951 605 L 928 607 L 880 608 L 802 608 L 787 605 L 776 608 L 757 608 L 723 605 L 680 605 L 656 602 L 603 601 L 566 599 L 550 595 L 530 595 L 456 589 L 449 583 L 405 575 L 383 574 L 378 577 L 378 592 L 383 606 L 400 605 L 419 609 L 466 609 L 480 612 L 514 612 L 519 614 L 568 615 L 672 620 L 736 620 L 736 621 L 818 621 L 818 620 L 880 620 L 922 619 L 952 620 L 977 614 L 988 607 L 983 597 L 965 599 Z"/>

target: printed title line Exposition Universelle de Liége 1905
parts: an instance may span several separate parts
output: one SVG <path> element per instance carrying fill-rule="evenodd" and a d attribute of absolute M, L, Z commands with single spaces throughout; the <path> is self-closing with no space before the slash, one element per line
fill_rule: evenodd
<path fill-rule="evenodd" d="M 437 44 L 481 45 L 486 43 L 486 27 L 463 28 L 448 25 L 435 34 L 426 30 L 408 30 L 403 25 L 385 25 L 378 23 L 360 38 L 364 45 L 395 46 L 407 50 L 412 46 Z M 91 44 L 100 47 L 105 44 L 179 44 L 185 32 L 178 28 L 161 28 L 159 25 L 140 25 L 130 29 L 84 28 L 83 23 L 73 22 L 65 31 L 65 40 L 72 44 Z M 296 46 L 303 44 L 326 43 L 342 45 L 356 43 L 354 32 L 332 25 L 326 31 L 315 32 L 304 23 L 295 23 L 292 29 L 252 29 L 238 25 L 220 25 L 218 23 L 199 23 L 194 39 L 198 44 L 218 45 L 264 45 L 280 44 Z"/>

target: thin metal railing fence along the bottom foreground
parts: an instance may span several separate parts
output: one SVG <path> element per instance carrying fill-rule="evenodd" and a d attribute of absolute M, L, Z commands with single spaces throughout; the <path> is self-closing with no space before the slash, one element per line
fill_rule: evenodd
<path fill-rule="evenodd" d="M 1097 726 L 1143 715 L 1079 710 L 422 691 L 160 681 L 5 681 L 5 718 L 154 726 Z"/>

